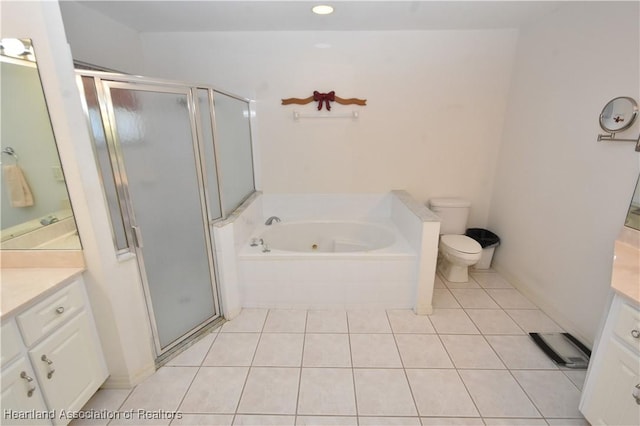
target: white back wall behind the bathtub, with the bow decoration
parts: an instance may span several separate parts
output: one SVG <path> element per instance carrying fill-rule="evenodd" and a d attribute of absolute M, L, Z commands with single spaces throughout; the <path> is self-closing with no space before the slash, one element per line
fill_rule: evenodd
<path fill-rule="evenodd" d="M 459 195 L 485 225 L 517 33 L 210 32 L 141 35 L 147 74 L 256 100 L 265 193 Z M 330 48 L 314 47 L 317 43 Z M 335 90 L 360 119 L 307 119 L 280 99 Z"/>

